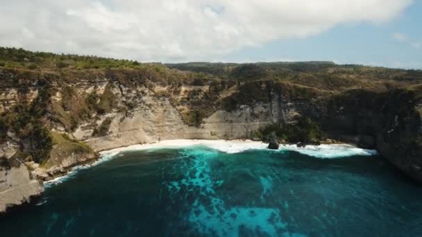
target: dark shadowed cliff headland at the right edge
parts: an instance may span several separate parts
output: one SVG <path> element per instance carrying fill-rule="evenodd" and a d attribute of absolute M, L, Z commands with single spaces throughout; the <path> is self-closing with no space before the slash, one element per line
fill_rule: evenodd
<path fill-rule="evenodd" d="M 422 102 L 418 91 L 354 90 L 332 97 L 323 128 L 375 148 L 406 175 L 422 182 Z"/>

